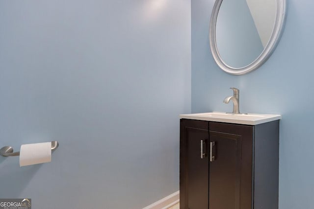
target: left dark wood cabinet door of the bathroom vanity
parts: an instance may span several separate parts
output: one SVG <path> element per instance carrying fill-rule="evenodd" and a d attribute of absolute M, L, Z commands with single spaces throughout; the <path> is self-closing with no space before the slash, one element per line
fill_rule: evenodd
<path fill-rule="evenodd" d="M 209 122 L 181 120 L 180 209 L 209 209 Z"/>

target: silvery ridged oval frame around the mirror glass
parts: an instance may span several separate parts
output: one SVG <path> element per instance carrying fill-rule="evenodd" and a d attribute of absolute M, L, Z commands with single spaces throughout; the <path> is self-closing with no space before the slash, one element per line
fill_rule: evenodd
<path fill-rule="evenodd" d="M 286 16 L 286 0 L 276 0 L 277 9 L 276 9 L 276 19 L 274 24 L 274 29 L 271 33 L 269 41 L 265 46 L 264 50 L 260 54 L 260 56 L 254 60 L 251 64 L 242 67 L 242 68 L 233 68 L 231 66 L 226 65 L 226 63 L 221 59 L 217 44 L 216 44 L 216 21 L 219 12 L 220 5 L 223 0 L 216 0 L 213 6 L 213 10 L 210 17 L 209 23 L 209 44 L 212 56 L 217 63 L 217 65 L 224 70 L 225 72 L 233 75 L 243 75 L 253 70 L 258 69 L 271 55 L 274 51 L 275 47 L 278 44 L 280 39 L 282 29 L 285 22 Z"/>

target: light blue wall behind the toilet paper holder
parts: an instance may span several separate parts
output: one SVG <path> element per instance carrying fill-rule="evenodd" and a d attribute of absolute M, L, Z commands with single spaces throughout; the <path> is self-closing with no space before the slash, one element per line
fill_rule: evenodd
<path fill-rule="evenodd" d="M 60 142 L 52 163 L 0 157 L 0 198 L 140 209 L 179 190 L 190 21 L 189 0 L 0 0 L 0 146 Z"/>

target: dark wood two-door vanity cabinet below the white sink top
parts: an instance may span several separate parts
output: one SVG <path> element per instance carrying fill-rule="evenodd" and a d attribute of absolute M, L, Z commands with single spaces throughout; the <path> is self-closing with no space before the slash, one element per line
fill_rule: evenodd
<path fill-rule="evenodd" d="M 279 120 L 181 118 L 180 209 L 278 209 Z"/>

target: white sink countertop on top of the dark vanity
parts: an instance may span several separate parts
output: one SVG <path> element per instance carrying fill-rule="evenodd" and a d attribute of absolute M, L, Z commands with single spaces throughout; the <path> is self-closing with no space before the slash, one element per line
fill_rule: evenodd
<path fill-rule="evenodd" d="M 266 114 L 232 114 L 232 113 L 196 113 L 180 115 L 180 118 L 207 120 L 225 123 L 237 123 L 245 125 L 257 125 L 281 119 L 281 115 L 266 115 Z"/>

